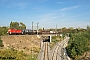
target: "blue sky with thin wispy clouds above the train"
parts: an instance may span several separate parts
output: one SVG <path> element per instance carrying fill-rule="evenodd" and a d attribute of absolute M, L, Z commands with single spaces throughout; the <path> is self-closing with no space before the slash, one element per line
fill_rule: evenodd
<path fill-rule="evenodd" d="M 90 0 L 0 0 L 0 25 L 23 22 L 31 28 L 90 26 Z M 36 27 L 34 27 L 36 28 Z"/>

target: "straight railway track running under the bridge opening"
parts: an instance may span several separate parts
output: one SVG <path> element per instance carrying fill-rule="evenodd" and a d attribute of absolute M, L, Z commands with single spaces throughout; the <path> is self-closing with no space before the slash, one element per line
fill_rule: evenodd
<path fill-rule="evenodd" d="M 37 60 L 50 60 L 50 55 L 49 55 L 50 47 L 48 45 L 49 42 L 43 42 L 43 46 L 41 48 Z"/>

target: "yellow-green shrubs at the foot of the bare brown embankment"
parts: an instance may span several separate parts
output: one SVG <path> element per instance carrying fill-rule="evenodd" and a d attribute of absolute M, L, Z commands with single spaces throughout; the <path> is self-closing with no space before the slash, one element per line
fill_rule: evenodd
<path fill-rule="evenodd" d="M 36 60 L 37 55 L 28 55 L 15 49 L 1 49 L 0 60 Z"/>

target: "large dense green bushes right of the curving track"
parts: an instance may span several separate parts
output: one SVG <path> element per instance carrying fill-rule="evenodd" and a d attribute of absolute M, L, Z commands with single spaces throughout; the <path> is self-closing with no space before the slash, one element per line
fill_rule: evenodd
<path fill-rule="evenodd" d="M 79 32 L 70 35 L 68 46 L 66 47 L 68 55 L 74 60 L 88 50 L 90 34 Z"/>

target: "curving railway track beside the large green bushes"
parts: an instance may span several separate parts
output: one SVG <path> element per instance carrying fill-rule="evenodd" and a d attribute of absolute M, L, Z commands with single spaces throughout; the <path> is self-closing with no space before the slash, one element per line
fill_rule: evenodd
<path fill-rule="evenodd" d="M 68 42 L 67 39 L 61 41 L 60 43 L 57 43 L 55 48 L 52 51 L 51 60 L 68 60 L 65 56 L 65 44 Z"/>

